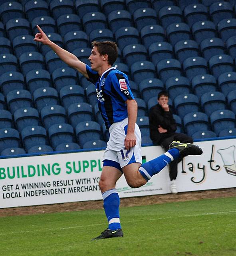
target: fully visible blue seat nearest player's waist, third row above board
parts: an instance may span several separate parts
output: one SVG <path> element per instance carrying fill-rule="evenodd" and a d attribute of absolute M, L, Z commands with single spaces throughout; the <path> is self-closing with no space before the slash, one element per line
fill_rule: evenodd
<path fill-rule="evenodd" d="M 93 121 L 92 106 L 85 102 L 77 102 L 69 105 L 67 114 L 73 128 L 75 128 L 79 122 Z"/>

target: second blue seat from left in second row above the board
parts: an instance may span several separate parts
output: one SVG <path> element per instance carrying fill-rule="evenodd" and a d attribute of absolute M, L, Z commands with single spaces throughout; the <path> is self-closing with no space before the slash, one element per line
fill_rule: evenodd
<path fill-rule="evenodd" d="M 35 145 L 48 144 L 47 132 L 42 126 L 27 126 L 21 131 L 22 144 L 26 152 Z"/>

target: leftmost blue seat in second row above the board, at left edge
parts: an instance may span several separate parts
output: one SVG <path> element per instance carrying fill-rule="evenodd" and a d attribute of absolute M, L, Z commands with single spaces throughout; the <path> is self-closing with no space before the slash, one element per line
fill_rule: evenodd
<path fill-rule="evenodd" d="M 13 128 L 0 129 L 0 152 L 7 148 L 20 147 L 19 132 Z"/>

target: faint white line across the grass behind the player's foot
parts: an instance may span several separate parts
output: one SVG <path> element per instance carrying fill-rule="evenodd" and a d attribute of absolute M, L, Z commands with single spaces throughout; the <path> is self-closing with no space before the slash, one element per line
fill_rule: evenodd
<path fill-rule="evenodd" d="M 140 222 L 140 221 L 166 220 L 166 219 L 172 219 L 172 218 L 198 217 L 198 216 L 230 214 L 230 213 L 236 213 L 236 210 L 235 211 L 228 211 L 228 212 L 206 212 L 206 213 L 200 213 L 200 214 L 187 214 L 187 215 L 182 215 L 182 216 L 169 216 L 169 217 L 161 217 L 161 218 L 148 218 L 148 219 L 143 219 L 142 218 L 142 219 L 122 221 L 121 223 L 123 224 L 123 223 Z M 66 230 L 66 229 L 72 229 L 72 228 L 87 228 L 87 227 L 94 227 L 94 226 L 101 226 L 101 225 L 104 225 L 104 223 L 80 225 L 80 226 L 65 227 L 65 228 L 49 228 L 49 229 L 45 229 L 45 230 L 21 230 L 21 231 L 18 231 L 18 232 L 0 233 L 0 235 L 3 236 L 3 235 L 6 235 L 6 234 L 48 232 L 48 231 L 54 231 L 54 230 Z"/>

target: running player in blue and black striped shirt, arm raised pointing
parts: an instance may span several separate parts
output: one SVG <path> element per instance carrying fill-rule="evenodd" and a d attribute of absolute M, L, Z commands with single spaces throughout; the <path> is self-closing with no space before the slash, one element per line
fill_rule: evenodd
<path fill-rule="evenodd" d="M 115 189 L 121 175 L 124 174 L 129 186 L 139 188 L 174 159 L 191 154 L 200 155 L 202 150 L 194 144 L 174 141 L 165 154 L 142 164 L 141 133 L 136 124 L 137 103 L 126 74 L 112 67 L 118 56 L 117 44 L 109 41 L 92 42 L 93 48 L 89 56 L 91 66 L 88 66 L 50 41 L 39 26 L 37 28 L 39 32 L 34 41 L 50 46 L 61 60 L 96 86 L 99 110 L 110 133 L 99 180 L 108 228 L 92 240 L 121 237 L 120 199 Z"/>

